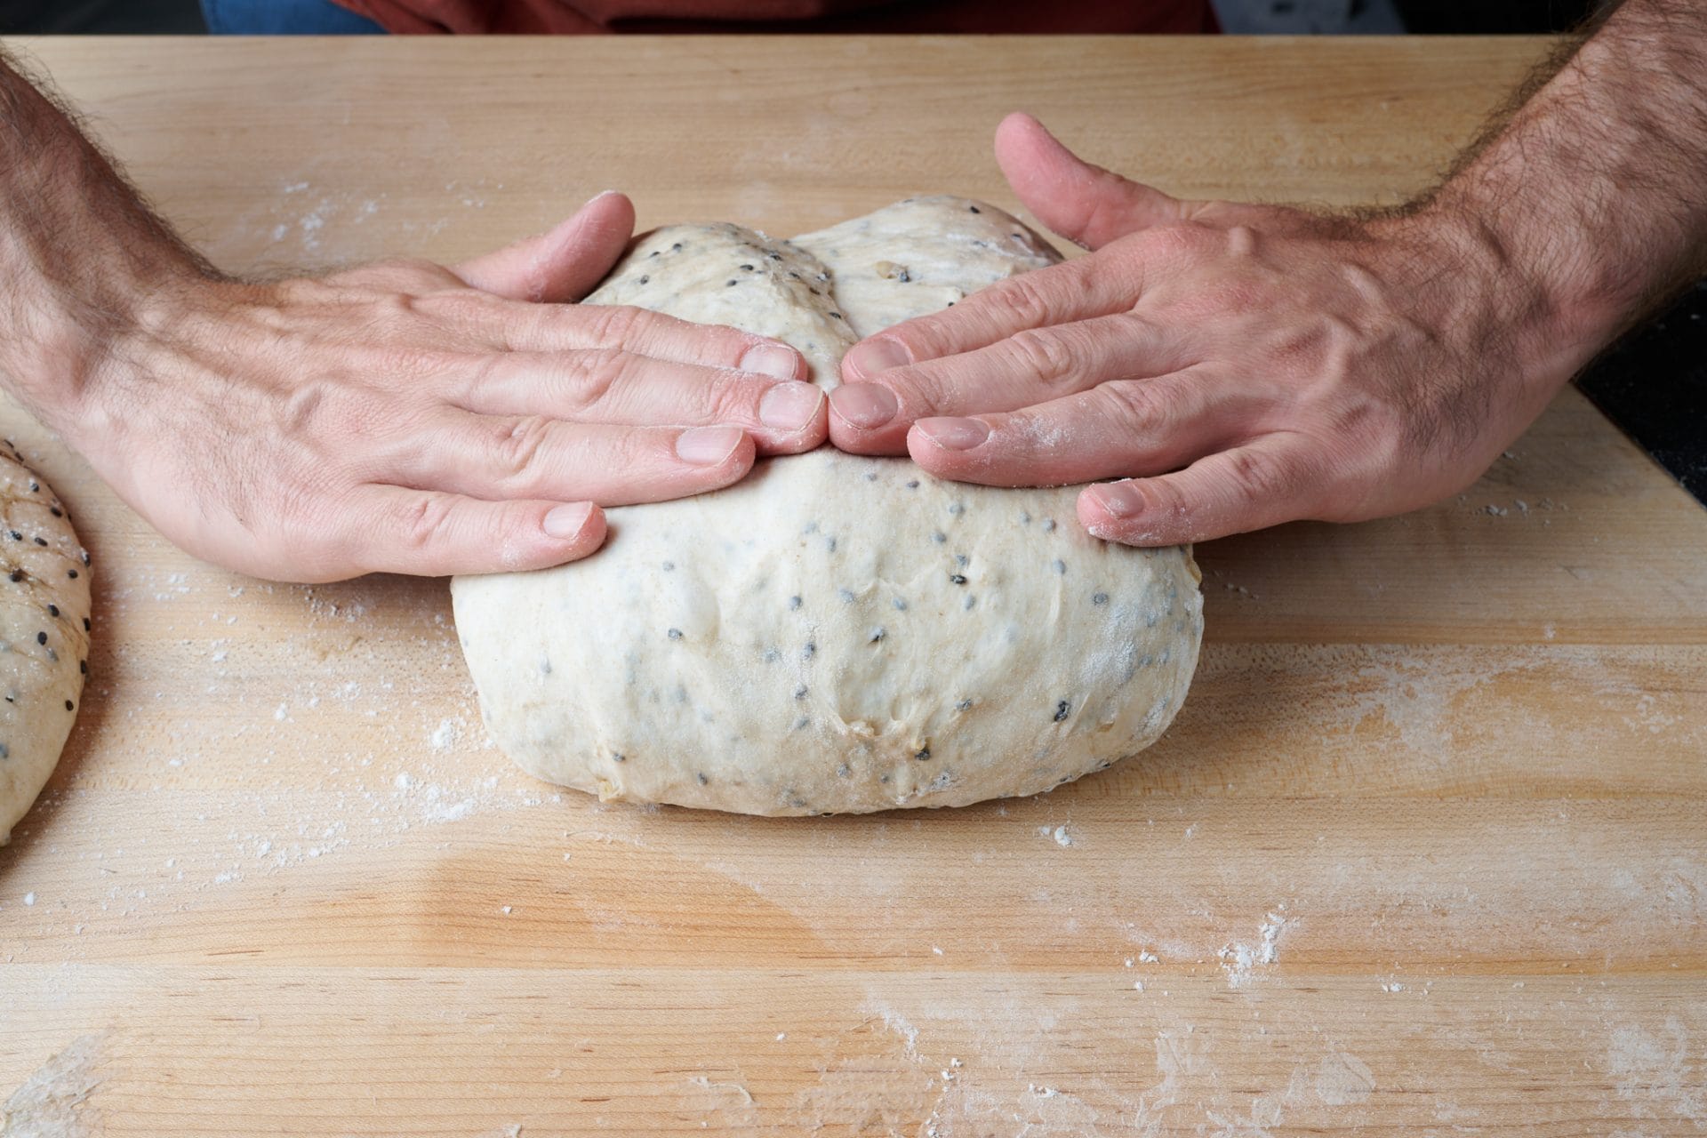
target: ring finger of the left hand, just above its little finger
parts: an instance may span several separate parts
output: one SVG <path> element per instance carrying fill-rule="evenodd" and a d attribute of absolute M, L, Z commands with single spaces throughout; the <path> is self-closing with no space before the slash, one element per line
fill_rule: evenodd
<path fill-rule="evenodd" d="M 753 469 L 739 427 L 606 427 L 446 411 L 394 449 L 381 478 L 492 502 L 633 505 L 717 490 Z"/>

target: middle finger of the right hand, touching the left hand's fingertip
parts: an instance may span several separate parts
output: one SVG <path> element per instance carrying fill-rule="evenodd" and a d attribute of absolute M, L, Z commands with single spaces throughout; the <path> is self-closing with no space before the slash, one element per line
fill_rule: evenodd
<path fill-rule="evenodd" d="M 830 392 L 830 435 L 854 454 L 901 454 L 915 420 L 1048 403 L 1115 379 L 1188 367 L 1180 329 L 1132 312 L 1019 331 L 975 351 L 883 372 Z"/>

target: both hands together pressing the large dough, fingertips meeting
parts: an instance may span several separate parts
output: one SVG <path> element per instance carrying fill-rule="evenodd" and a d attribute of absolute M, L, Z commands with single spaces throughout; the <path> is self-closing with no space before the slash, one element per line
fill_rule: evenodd
<path fill-rule="evenodd" d="M 451 270 L 166 290 L 67 433 L 188 551 L 336 580 L 570 561 L 604 539 L 599 507 L 826 437 L 942 478 L 1092 481 L 1079 520 L 1130 544 L 1379 517 L 1466 486 L 1569 375 L 1528 365 L 1507 329 L 1538 290 L 1473 225 L 1178 201 L 1022 114 L 995 147 L 1091 253 L 869 338 L 828 401 L 777 341 L 560 304 L 632 234 L 601 195 Z"/>

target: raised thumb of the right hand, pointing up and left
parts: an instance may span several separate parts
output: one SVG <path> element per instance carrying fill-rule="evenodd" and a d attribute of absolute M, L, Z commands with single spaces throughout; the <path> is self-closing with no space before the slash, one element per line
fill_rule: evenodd
<path fill-rule="evenodd" d="M 1040 222 L 1086 249 L 1191 212 L 1191 203 L 1079 159 L 1024 113 L 1009 114 L 995 128 L 995 160 Z"/>

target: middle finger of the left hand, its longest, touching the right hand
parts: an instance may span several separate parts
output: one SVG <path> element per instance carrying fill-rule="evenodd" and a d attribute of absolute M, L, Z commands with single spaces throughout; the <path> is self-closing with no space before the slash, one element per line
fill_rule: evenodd
<path fill-rule="evenodd" d="M 795 379 L 608 350 L 512 351 L 492 360 L 480 375 L 452 380 L 457 406 L 626 427 L 729 423 L 765 454 L 811 450 L 828 432 L 823 389 Z"/>

